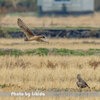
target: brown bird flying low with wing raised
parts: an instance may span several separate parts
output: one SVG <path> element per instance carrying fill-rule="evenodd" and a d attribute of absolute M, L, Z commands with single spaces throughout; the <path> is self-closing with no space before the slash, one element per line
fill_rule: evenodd
<path fill-rule="evenodd" d="M 41 36 L 36 36 L 29 28 L 28 26 L 25 25 L 25 23 L 18 18 L 17 20 L 18 26 L 23 30 L 23 32 L 26 35 L 25 41 L 39 41 L 39 42 L 48 42 L 46 40 L 46 37 L 41 35 Z"/>

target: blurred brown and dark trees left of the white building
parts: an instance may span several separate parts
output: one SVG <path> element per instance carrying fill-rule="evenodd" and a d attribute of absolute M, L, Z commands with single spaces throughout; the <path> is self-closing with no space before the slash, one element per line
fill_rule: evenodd
<path fill-rule="evenodd" d="M 0 13 L 37 10 L 37 0 L 0 0 Z"/>

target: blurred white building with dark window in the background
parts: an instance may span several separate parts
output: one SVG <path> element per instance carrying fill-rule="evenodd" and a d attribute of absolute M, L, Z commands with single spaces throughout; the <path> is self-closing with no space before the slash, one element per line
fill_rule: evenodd
<path fill-rule="evenodd" d="M 100 0 L 38 0 L 40 13 L 89 13 L 100 9 Z"/>

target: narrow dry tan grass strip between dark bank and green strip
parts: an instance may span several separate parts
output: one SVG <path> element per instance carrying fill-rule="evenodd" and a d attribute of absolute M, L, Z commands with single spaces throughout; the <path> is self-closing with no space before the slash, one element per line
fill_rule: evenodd
<path fill-rule="evenodd" d="M 25 42 L 24 39 L 0 39 L 0 48 L 36 49 L 36 48 L 66 48 L 66 49 L 100 49 L 100 39 L 48 39 L 48 43 Z"/>

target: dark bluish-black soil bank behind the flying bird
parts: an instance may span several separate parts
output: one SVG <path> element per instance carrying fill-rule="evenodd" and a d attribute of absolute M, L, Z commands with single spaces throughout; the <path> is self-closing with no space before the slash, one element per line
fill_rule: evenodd
<path fill-rule="evenodd" d="M 100 38 L 100 30 L 88 30 L 88 29 L 41 29 L 32 30 L 36 35 L 44 35 L 51 38 Z M 25 37 L 22 31 L 8 32 L 12 38 Z M 5 37 L 0 35 L 0 37 Z"/>

